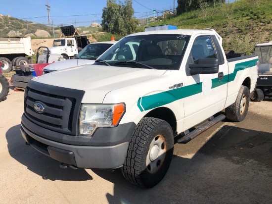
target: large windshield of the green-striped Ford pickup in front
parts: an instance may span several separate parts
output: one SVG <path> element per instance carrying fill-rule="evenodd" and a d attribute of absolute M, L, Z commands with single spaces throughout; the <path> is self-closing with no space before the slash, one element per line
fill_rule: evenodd
<path fill-rule="evenodd" d="M 105 51 L 99 59 L 111 66 L 179 70 L 189 38 L 176 34 L 129 36 Z M 101 61 L 95 64 L 103 65 Z"/>

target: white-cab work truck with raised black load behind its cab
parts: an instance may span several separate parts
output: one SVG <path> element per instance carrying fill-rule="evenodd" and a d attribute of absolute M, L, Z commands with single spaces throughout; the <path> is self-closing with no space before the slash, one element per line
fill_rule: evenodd
<path fill-rule="evenodd" d="M 62 32 L 61 36 L 64 35 L 66 37 L 61 38 L 60 36 L 60 38 L 55 39 L 53 41 L 53 47 L 48 48 L 49 54 L 61 54 L 64 59 L 71 59 L 90 44 L 90 40 L 87 36 L 79 35 L 74 26 L 63 26 L 60 27 L 60 29 Z M 46 49 L 43 50 L 43 54 L 47 53 L 48 51 Z"/>

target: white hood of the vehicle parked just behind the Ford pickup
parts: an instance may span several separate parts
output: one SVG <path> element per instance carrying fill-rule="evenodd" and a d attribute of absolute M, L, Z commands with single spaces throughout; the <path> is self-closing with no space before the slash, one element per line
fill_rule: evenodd
<path fill-rule="evenodd" d="M 55 63 L 45 66 L 44 70 L 58 71 L 61 69 L 71 68 L 75 66 L 81 66 L 84 64 L 93 64 L 95 60 L 90 59 L 67 59 L 63 61 L 57 61 Z"/>

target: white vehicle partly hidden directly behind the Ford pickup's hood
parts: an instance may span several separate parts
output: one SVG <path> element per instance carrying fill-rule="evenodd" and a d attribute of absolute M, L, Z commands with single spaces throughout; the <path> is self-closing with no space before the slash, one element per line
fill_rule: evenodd
<path fill-rule="evenodd" d="M 61 69 L 67 69 L 84 64 L 93 64 L 104 51 L 108 50 L 117 41 L 91 43 L 80 51 L 73 59 L 52 63 L 45 67 L 44 74 Z"/>

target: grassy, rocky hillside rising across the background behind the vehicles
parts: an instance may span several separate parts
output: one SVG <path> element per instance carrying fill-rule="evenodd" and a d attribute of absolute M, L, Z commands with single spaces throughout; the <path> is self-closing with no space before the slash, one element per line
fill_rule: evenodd
<path fill-rule="evenodd" d="M 272 0 L 237 0 L 230 4 L 217 4 L 215 7 L 150 23 L 148 26 L 165 24 L 178 26 L 178 29 L 215 29 L 223 37 L 226 52 L 234 50 L 237 53 L 251 54 L 255 44 L 272 41 Z M 23 37 L 28 33 L 35 33 L 37 29 L 53 35 L 52 29 L 49 30 L 44 24 L 0 15 L 0 37 L 8 37 L 11 30 L 18 34 L 16 37 Z M 91 42 L 108 41 L 110 36 L 115 36 L 117 40 L 123 37 L 111 33 L 95 34 L 101 31 L 101 28 L 91 26 L 77 29 L 81 34 L 88 35 Z M 55 37 L 59 37 L 59 27 L 55 27 L 54 31 Z M 140 31 L 144 31 L 144 27 L 137 29 L 137 32 Z"/>

